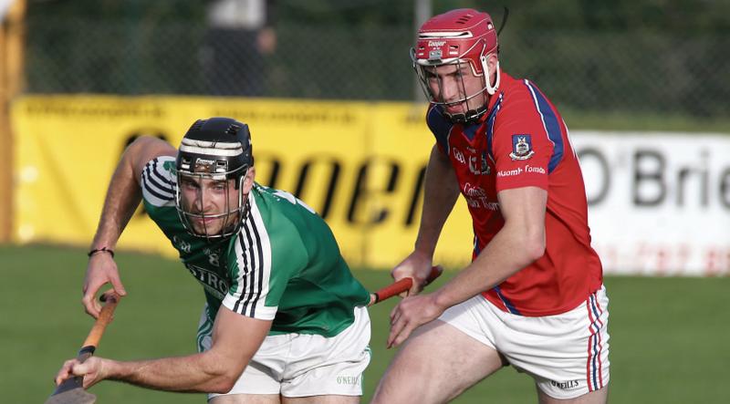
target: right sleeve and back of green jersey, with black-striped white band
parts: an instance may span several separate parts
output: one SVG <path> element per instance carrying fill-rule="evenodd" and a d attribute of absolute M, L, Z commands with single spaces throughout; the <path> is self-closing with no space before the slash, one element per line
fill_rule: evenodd
<path fill-rule="evenodd" d="M 256 185 L 252 194 L 239 245 L 229 256 L 236 289 L 224 304 L 247 316 L 273 318 L 275 334 L 336 335 L 370 295 L 316 212 L 288 192 Z"/>

